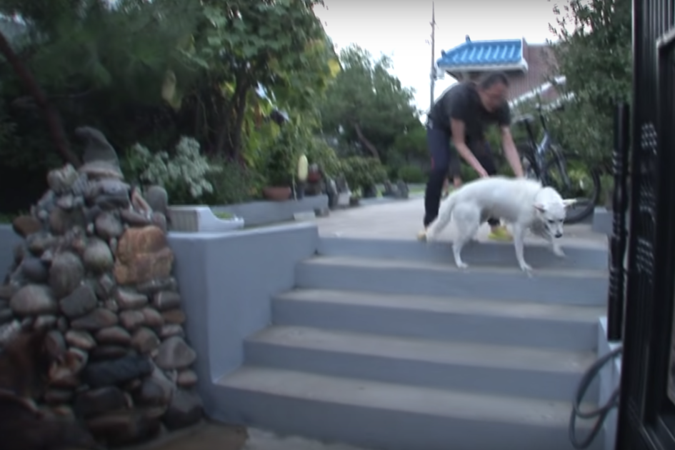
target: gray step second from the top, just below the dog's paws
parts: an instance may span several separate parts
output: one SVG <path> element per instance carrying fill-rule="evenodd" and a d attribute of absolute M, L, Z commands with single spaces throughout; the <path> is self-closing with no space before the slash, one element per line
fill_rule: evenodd
<path fill-rule="evenodd" d="M 461 296 L 604 306 L 606 270 L 539 269 L 528 277 L 516 266 L 469 267 L 421 261 L 319 256 L 296 266 L 296 286 L 387 294 Z"/>

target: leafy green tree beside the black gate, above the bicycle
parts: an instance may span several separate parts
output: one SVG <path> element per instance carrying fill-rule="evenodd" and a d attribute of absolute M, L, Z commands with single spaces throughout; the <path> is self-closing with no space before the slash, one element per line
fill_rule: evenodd
<path fill-rule="evenodd" d="M 564 94 L 574 97 L 551 122 L 569 151 L 606 163 L 614 105 L 631 100 L 631 2 L 569 0 L 554 12 L 557 72 L 566 77 Z"/>

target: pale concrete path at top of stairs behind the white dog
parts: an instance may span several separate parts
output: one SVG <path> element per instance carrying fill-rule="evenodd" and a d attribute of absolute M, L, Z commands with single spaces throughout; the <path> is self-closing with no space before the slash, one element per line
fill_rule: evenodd
<path fill-rule="evenodd" d="M 329 216 L 316 219 L 316 224 L 321 236 L 414 240 L 422 228 L 423 216 L 424 199 L 417 198 L 331 211 Z M 488 234 L 489 226 L 484 224 L 476 238 L 486 241 Z M 454 226 L 450 224 L 441 234 L 441 240 L 451 241 L 453 235 Z M 566 226 L 565 236 L 561 239 L 563 246 L 607 248 L 606 236 L 591 231 L 590 224 Z M 536 236 L 529 236 L 528 240 L 542 242 Z"/>

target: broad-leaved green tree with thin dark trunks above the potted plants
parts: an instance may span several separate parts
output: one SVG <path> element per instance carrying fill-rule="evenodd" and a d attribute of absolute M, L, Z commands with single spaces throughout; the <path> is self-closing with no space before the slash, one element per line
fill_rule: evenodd
<path fill-rule="evenodd" d="M 204 69 L 204 88 L 193 101 L 214 110 L 213 121 L 201 124 L 213 130 L 210 151 L 236 158 L 251 91 L 266 89 L 280 107 L 309 108 L 334 73 L 333 51 L 314 15 L 319 0 L 205 4 L 194 45 L 185 51 Z"/>

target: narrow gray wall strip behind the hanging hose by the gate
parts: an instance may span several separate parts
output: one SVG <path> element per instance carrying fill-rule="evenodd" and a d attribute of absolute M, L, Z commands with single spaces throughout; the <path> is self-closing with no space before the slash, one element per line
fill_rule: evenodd
<path fill-rule="evenodd" d="M 610 351 L 616 349 L 621 345 L 620 342 L 607 341 L 607 318 L 600 318 L 600 326 L 598 327 L 598 357 L 608 354 Z M 621 384 L 621 356 L 616 358 L 611 363 L 606 364 L 600 371 L 600 401 L 599 405 L 606 404 L 614 389 Z M 604 423 L 604 450 L 614 450 L 616 442 L 616 421 L 618 415 L 616 409 L 613 409 Z"/>

